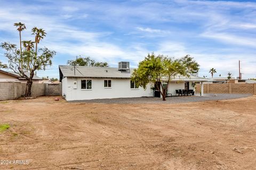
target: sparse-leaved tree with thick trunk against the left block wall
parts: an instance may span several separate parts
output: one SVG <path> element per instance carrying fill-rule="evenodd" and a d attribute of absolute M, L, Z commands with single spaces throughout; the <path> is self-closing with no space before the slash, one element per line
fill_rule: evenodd
<path fill-rule="evenodd" d="M 25 26 L 25 25 L 24 25 Z M 39 29 L 42 30 L 42 29 Z M 33 31 L 33 30 L 32 30 Z M 33 31 L 34 33 L 34 31 Z M 46 33 L 44 32 L 44 35 Z M 35 75 L 35 71 L 37 70 L 45 70 L 45 67 L 52 64 L 52 57 L 55 55 L 55 52 L 52 50 L 49 50 L 48 48 L 40 48 L 37 50 L 37 44 L 39 43 L 39 40 L 44 37 L 42 34 L 38 35 L 35 34 L 36 41 L 36 50 L 33 49 L 33 42 L 28 41 L 30 44 L 26 46 L 26 50 L 22 52 L 22 50 L 17 49 L 17 45 L 11 44 L 11 43 L 2 43 L 1 47 L 6 50 L 6 53 L 4 54 L 5 57 L 8 60 L 9 66 L 11 70 L 13 70 L 15 73 L 19 74 L 22 78 L 25 78 L 27 80 L 27 86 L 26 86 L 26 92 L 25 96 L 29 97 L 31 96 L 31 87 L 33 84 L 33 77 Z M 38 40 L 39 39 L 39 40 Z M 23 45 L 26 44 L 23 42 Z M 38 51 L 38 52 L 37 52 Z M 20 52 L 22 53 L 20 55 Z M 29 72 L 29 75 L 26 75 L 25 73 Z"/>

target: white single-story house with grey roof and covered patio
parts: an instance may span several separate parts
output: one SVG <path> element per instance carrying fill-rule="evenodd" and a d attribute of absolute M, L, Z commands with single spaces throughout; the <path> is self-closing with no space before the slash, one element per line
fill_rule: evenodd
<path fill-rule="evenodd" d="M 121 64 L 120 64 L 121 63 Z M 122 66 L 125 63 L 125 66 Z M 125 68 L 124 68 L 125 67 Z M 92 67 L 59 65 L 62 96 L 67 101 L 103 98 L 127 97 L 161 97 L 159 91 L 153 90 L 155 84 L 148 84 L 146 89 L 137 87 L 131 81 L 133 69 L 129 62 L 119 62 L 116 67 Z M 193 89 L 193 83 L 208 79 L 191 75 L 190 78 L 177 77 L 171 80 L 168 93 L 175 95 L 177 89 Z M 165 80 L 163 79 L 163 84 Z M 203 95 L 203 86 L 201 94 Z"/>

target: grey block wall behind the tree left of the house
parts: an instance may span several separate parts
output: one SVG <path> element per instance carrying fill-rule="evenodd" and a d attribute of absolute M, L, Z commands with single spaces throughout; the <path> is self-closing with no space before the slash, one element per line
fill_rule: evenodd
<path fill-rule="evenodd" d="M 47 88 L 46 88 L 47 87 Z M 25 95 L 25 83 L 0 83 L 0 100 L 17 99 Z M 60 84 L 32 84 L 31 96 L 60 96 Z"/>

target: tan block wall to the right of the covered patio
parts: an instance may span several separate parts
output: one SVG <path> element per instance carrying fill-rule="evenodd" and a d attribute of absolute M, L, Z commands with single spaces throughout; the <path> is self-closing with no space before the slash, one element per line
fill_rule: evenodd
<path fill-rule="evenodd" d="M 196 84 L 196 93 L 200 93 L 201 84 Z M 256 95 L 256 83 L 254 84 L 204 84 L 206 94 L 254 94 Z"/>

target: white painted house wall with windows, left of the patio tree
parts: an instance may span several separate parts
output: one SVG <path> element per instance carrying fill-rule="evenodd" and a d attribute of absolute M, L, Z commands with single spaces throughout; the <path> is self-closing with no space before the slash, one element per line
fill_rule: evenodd
<path fill-rule="evenodd" d="M 66 80 L 65 80 L 66 79 Z M 89 100 L 104 98 L 125 98 L 153 96 L 153 90 L 148 84 L 147 89 L 130 88 L 130 79 L 95 79 L 95 78 L 65 78 L 62 80 L 62 94 L 66 94 L 66 100 Z M 81 80 L 92 80 L 92 89 L 81 89 Z M 104 80 L 111 80 L 111 88 L 104 87 Z M 74 81 L 77 81 L 75 89 Z M 66 88 L 66 89 L 65 89 Z"/>

